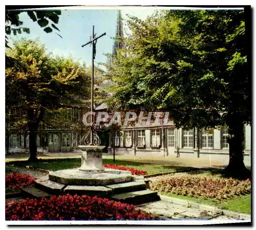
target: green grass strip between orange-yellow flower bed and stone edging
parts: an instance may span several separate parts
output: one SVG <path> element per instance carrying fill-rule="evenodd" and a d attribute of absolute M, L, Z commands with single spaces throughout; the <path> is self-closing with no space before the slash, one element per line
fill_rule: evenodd
<path fill-rule="evenodd" d="M 202 197 L 188 197 L 182 195 L 176 195 L 173 193 L 162 193 L 165 196 L 186 199 L 194 202 L 198 202 L 205 205 L 217 206 L 220 209 L 226 209 L 232 212 L 251 214 L 251 194 L 236 196 L 225 201 L 215 200 Z"/>

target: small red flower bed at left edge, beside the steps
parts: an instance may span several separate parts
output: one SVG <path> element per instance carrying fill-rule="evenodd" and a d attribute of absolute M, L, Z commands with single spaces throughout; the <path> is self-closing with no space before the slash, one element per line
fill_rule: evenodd
<path fill-rule="evenodd" d="M 15 191 L 20 188 L 29 188 L 34 185 L 35 178 L 29 174 L 20 174 L 13 172 L 5 175 L 5 188 L 9 191 Z"/>

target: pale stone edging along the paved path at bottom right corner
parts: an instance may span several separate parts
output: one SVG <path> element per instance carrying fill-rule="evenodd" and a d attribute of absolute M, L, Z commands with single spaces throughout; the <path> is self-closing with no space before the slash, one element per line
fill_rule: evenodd
<path fill-rule="evenodd" d="M 214 213 L 222 213 L 225 216 L 234 217 L 234 218 L 237 218 L 237 219 L 251 219 L 251 215 L 249 215 L 249 214 L 236 213 L 236 212 L 232 212 L 232 211 L 228 211 L 228 210 L 224 210 L 224 209 L 219 209 L 216 206 L 209 206 L 209 205 L 205 205 L 205 204 L 201 204 L 201 203 L 197 203 L 197 202 L 193 202 L 193 201 L 168 197 L 168 196 L 164 196 L 164 195 L 159 195 L 159 197 L 160 197 L 161 200 L 166 201 L 166 202 L 170 202 L 170 203 L 177 203 L 177 204 L 181 204 L 181 205 L 187 205 L 187 206 L 191 206 L 191 207 L 196 208 L 196 209 L 211 211 L 211 212 L 214 212 Z"/>

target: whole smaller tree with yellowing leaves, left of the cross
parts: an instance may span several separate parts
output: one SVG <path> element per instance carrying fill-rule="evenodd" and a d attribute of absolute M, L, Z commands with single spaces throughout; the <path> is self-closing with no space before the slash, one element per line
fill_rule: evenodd
<path fill-rule="evenodd" d="M 84 66 L 52 56 L 38 40 L 21 39 L 7 55 L 20 66 L 6 68 L 6 116 L 11 127 L 27 128 L 29 160 L 36 160 L 39 125 L 60 109 L 84 104 L 90 95 L 90 77 Z M 19 112 L 15 118 L 14 110 Z"/>

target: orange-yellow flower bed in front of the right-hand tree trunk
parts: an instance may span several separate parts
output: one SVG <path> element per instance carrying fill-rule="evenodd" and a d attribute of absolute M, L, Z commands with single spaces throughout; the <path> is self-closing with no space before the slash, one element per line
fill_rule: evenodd
<path fill-rule="evenodd" d="M 158 192 L 170 192 L 177 195 L 225 199 L 235 195 L 251 193 L 251 181 L 207 176 L 180 174 L 152 178 L 150 189 Z"/>

